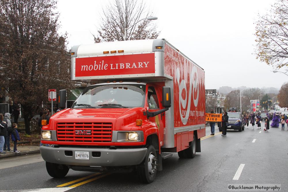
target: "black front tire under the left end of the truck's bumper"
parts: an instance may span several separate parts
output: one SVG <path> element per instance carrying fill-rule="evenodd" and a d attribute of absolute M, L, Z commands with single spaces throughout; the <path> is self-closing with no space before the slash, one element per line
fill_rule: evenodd
<path fill-rule="evenodd" d="M 69 168 L 66 165 L 46 162 L 46 170 L 51 177 L 63 178 L 67 175 Z"/>

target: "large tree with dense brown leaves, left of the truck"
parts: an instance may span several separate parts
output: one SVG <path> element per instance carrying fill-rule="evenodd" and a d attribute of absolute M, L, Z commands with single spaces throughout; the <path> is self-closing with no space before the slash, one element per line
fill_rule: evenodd
<path fill-rule="evenodd" d="M 54 0 L 0 0 L 0 84 L 21 104 L 27 134 L 48 89 L 73 87 L 55 5 Z"/>

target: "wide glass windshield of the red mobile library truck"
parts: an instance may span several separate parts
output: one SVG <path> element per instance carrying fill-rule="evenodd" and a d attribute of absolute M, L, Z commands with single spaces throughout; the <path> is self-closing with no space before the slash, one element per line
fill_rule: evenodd
<path fill-rule="evenodd" d="M 144 107 L 145 85 L 96 85 L 87 87 L 71 108 Z"/>

